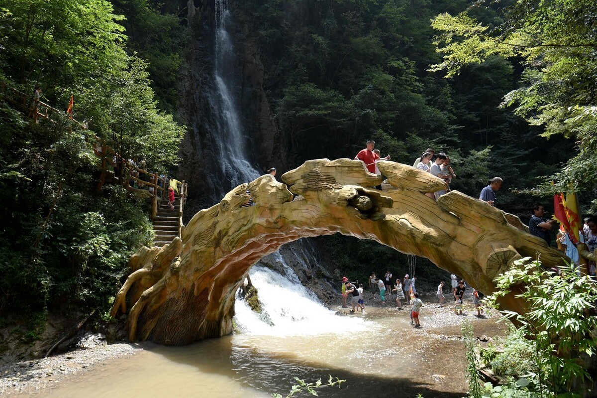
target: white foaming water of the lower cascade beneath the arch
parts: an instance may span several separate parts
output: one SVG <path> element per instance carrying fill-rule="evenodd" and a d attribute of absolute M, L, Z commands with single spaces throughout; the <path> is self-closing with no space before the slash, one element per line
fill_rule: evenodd
<path fill-rule="evenodd" d="M 252 311 L 243 299 L 236 299 L 235 322 L 242 333 L 288 336 L 365 330 L 360 316 L 336 316 L 325 308 L 313 292 L 300 284 L 282 256 L 277 257 L 287 275 L 261 265 L 249 271 L 251 282 L 259 291 L 261 314 Z"/>

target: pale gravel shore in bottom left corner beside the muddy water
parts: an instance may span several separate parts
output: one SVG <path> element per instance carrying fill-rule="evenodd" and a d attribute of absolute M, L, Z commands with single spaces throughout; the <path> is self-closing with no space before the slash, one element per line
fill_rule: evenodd
<path fill-rule="evenodd" d="M 16 396 L 52 388 L 74 373 L 93 372 L 94 367 L 119 357 L 132 356 L 150 343 L 101 344 L 44 359 L 0 366 L 0 396 Z"/>

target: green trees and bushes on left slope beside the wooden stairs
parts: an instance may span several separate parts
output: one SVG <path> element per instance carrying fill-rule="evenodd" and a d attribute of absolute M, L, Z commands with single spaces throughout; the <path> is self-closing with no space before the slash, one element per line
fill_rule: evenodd
<path fill-rule="evenodd" d="M 7 313 L 105 314 L 128 258 L 152 241 L 144 200 L 122 186 L 96 190 L 96 136 L 125 159 L 163 170 L 177 163 L 183 132 L 156 108 L 151 68 L 127 54 L 123 22 L 104 0 L 0 0 L 0 309 Z M 74 94 L 75 118 L 90 121 L 89 130 L 61 112 L 33 123 L 30 96 L 16 91 L 30 95 L 36 85 L 57 109 Z M 27 341 L 41 330 L 30 327 Z"/>

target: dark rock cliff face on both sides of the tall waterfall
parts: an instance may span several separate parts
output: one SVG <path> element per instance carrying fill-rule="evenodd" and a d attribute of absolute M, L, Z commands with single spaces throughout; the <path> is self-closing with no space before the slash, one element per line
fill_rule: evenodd
<path fill-rule="evenodd" d="M 220 154 L 214 142 L 220 139 L 219 111 L 214 107 L 218 95 L 214 78 L 216 44 L 213 4 L 195 7 L 190 19 L 190 42 L 186 62 L 180 71 L 178 113 L 188 130 L 180 148 L 182 159 L 177 179 L 189 183 L 186 214 L 192 216 L 212 206 L 233 186 L 227 180 L 227 170 L 219 166 Z M 283 137 L 279 134 L 273 110 L 263 87 L 264 68 L 259 56 L 259 43 L 249 35 L 247 26 L 227 19 L 227 33 L 232 40 L 235 62 L 227 65 L 226 81 L 238 97 L 242 131 L 247 137 L 248 161 L 260 169 L 276 167 L 279 175 L 288 170 Z M 260 170 L 260 172 L 263 170 Z M 248 181 L 247 181 L 248 182 Z"/>

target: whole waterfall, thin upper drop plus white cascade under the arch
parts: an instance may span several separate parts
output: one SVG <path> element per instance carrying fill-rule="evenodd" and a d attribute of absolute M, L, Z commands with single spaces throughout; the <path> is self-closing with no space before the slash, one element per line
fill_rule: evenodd
<path fill-rule="evenodd" d="M 232 37 L 227 30 L 230 20 L 227 0 L 215 0 L 215 43 L 214 43 L 214 88 L 207 93 L 215 115 L 216 131 L 212 131 L 213 146 L 216 150 L 217 167 L 211 181 L 219 200 L 231 188 L 256 179 L 260 173 L 251 163 L 251 154 L 247 149 L 248 137 L 244 134 L 239 112 L 238 68 Z M 301 256 L 292 253 L 294 264 L 307 262 L 315 264 L 310 256 L 312 250 L 304 250 L 303 243 L 296 243 Z M 264 307 L 261 316 L 248 308 L 241 299 L 236 301 L 236 324 L 249 333 L 306 333 L 307 330 L 325 331 L 325 325 L 336 324 L 337 317 L 318 302 L 315 294 L 303 287 L 297 275 L 286 264 L 280 253 L 275 255 L 276 262 L 284 267 L 285 277 L 260 265 L 251 270 L 251 280 L 259 289 L 259 299 Z M 329 322 L 325 322 L 327 319 Z M 296 322 L 301 320 L 301 322 Z M 301 326 L 297 326 L 300 324 Z"/>

